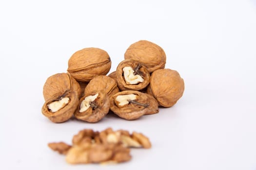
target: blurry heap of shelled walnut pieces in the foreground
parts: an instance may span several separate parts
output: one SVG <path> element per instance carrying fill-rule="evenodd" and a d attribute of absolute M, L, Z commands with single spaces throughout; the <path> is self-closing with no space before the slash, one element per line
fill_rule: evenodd
<path fill-rule="evenodd" d="M 70 164 L 120 163 L 129 161 L 130 148 L 151 148 L 149 138 L 141 133 L 130 134 L 125 130 L 107 128 L 101 132 L 84 129 L 73 136 L 72 146 L 64 142 L 49 143 L 48 146 L 66 155 Z"/>

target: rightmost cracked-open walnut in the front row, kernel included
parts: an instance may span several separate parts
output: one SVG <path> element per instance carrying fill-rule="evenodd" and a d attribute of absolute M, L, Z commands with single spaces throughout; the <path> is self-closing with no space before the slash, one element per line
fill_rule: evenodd
<path fill-rule="evenodd" d="M 110 109 L 120 118 L 127 120 L 138 119 L 144 114 L 158 112 L 157 102 L 150 99 L 151 97 L 148 94 L 139 91 L 122 91 L 110 97 Z"/>

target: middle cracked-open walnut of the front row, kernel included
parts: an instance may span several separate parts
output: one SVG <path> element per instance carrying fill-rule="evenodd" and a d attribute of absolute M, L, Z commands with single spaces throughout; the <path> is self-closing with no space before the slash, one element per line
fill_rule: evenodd
<path fill-rule="evenodd" d="M 84 104 L 83 104 L 84 103 Z M 109 112 L 109 97 L 104 91 L 92 91 L 79 101 L 74 116 L 87 122 L 98 122 Z"/>

